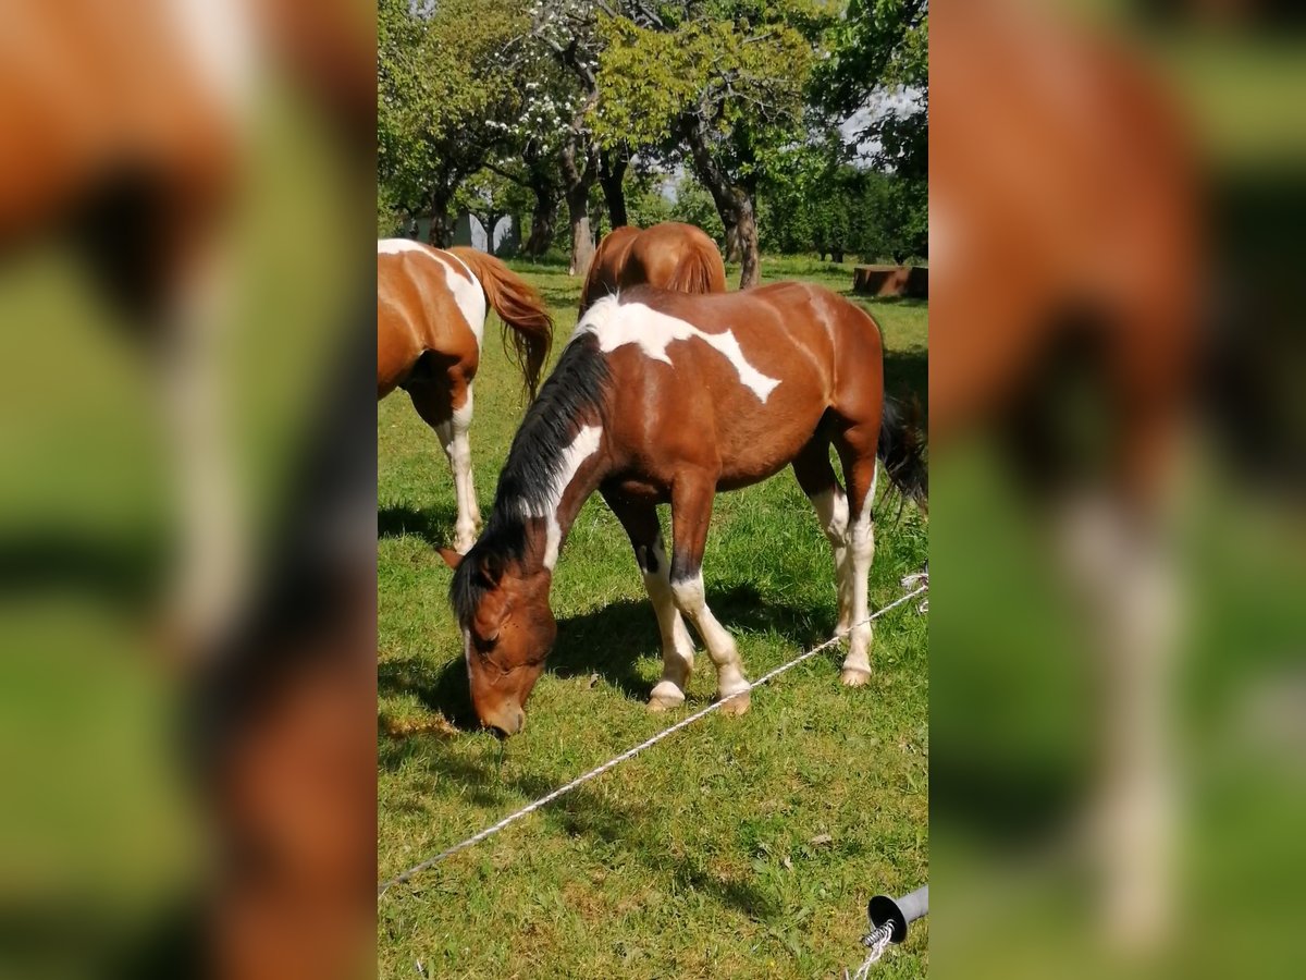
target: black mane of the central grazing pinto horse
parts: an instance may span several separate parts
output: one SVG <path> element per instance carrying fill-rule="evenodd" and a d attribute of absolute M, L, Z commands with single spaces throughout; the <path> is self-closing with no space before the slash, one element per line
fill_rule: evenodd
<path fill-rule="evenodd" d="M 487 589 L 481 575 L 485 559 L 524 557 L 525 515 L 550 503 L 550 485 L 563 453 L 586 419 L 597 416 L 602 423 L 607 383 L 607 361 L 598 350 L 598 338 L 582 333 L 572 340 L 512 439 L 486 529 L 453 572 L 449 602 L 460 623 L 471 618 Z"/>

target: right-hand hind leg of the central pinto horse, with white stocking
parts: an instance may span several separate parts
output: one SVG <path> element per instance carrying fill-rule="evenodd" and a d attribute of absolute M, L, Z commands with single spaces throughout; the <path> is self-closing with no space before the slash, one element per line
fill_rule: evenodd
<path fill-rule="evenodd" d="M 854 425 L 836 438 L 844 476 L 848 480 L 848 558 L 846 580 L 850 601 L 849 618 L 852 634 L 848 656 L 840 679 L 859 687 L 871 679 L 871 623 L 868 613 L 868 584 L 871 561 L 875 558 L 875 528 L 871 523 L 871 506 L 875 502 L 875 447 L 879 439 L 878 425 Z"/>

